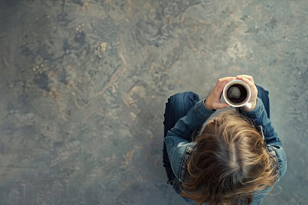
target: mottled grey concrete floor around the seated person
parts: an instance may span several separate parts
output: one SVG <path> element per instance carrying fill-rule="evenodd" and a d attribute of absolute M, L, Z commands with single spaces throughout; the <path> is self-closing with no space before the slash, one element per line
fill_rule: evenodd
<path fill-rule="evenodd" d="M 308 204 L 307 0 L 1 0 L 0 205 L 184 205 L 162 167 L 164 103 L 249 74 L 270 91 Z"/>

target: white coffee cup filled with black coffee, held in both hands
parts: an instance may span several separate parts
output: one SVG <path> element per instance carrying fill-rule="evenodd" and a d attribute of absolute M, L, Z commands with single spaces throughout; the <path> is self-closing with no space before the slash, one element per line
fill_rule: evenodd
<path fill-rule="evenodd" d="M 251 105 L 248 103 L 251 97 L 251 89 L 248 84 L 241 80 L 229 82 L 223 88 L 222 95 L 226 103 L 232 107 L 245 106 L 248 109 L 251 108 Z"/>

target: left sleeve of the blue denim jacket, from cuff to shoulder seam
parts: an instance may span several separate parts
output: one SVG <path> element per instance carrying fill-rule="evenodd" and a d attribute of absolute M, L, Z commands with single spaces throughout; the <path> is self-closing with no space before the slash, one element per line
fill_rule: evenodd
<path fill-rule="evenodd" d="M 177 136 L 189 141 L 192 132 L 215 113 L 215 110 L 210 111 L 205 107 L 204 101 L 197 102 L 185 117 L 179 119 L 175 126 L 168 132 L 167 136 Z"/>

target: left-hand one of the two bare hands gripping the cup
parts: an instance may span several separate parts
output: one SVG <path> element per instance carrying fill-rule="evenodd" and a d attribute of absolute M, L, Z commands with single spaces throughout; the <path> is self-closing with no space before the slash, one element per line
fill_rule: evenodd
<path fill-rule="evenodd" d="M 235 79 L 236 79 L 235 77 L 225 77 L 225 78 L 220 78 L 217 81 L 215 88 L 213 89 L 213 91 L 211 92 L 207 100 L 205 101 L 205 106 L 209 110 L 223 109 L 223 108 L 227 108 L 230 106 L 227 103 L 221 103 L 220 98 L 221 98 L 222 90 L 225 87 L 225 85 L 227 85 L 227 83 Z"/>

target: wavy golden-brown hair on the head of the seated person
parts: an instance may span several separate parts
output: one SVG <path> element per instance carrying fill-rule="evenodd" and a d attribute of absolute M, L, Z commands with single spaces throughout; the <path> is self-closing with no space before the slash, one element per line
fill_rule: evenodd
<path fill-rule="evenodd" d="M 270 186 L 273 191 L 277 164 L 249 118 L 233 109 L 223 111 L 194 142 L 181 195 L 196 205 L 250 205 L 255 190 Z"/>

